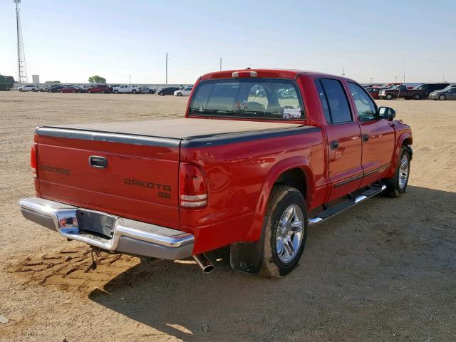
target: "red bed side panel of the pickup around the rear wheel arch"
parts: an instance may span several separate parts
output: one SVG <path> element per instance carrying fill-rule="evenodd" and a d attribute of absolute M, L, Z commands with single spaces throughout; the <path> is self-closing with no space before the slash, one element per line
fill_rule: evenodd
<path fill-rule="evenodd" d="M 307 130 L 309 133 L 307 133 Z M 181 162 L 201 165 L 207 175 L 209 204 L 180 208 L 180 229 L 195 234 L 194 253 L 233 242 L 255 241 L 261 234 L 274 181 L 291 168 L 306 172 L 309 194 L 325 190 L 323 138 L 319 128 L 281 137 L 214 145 L 182 144 Z M 313 197 L 308 197 L 311 205 Z"/>

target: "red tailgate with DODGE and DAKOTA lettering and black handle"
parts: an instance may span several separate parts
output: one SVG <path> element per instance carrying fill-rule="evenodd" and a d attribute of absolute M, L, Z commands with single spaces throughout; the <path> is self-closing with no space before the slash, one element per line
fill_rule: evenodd
<path fill-rule="evenodd" d="M 41 197 L 165 227 L 179 226 L 180 140 L 64 128 L 38 128 L 36 133 Z M 103 158 L 106 165 L 100 167 Z"/>

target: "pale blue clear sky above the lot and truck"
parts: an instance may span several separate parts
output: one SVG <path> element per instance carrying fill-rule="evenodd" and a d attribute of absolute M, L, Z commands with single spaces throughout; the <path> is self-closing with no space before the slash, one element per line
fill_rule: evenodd
<path fill-rule="evenodd" d="M 22 0 L 28 81 L 194 83 L 236 68 L 359 82 L 456 81 L 454 0 Z M 0 73 L 16 78 L 16 11 L 0 0 Z"/>

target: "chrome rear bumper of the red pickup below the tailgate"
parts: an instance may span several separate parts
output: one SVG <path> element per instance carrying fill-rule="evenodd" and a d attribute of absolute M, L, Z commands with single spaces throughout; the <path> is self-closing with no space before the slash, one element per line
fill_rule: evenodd
<path fill-rule="evenodd" d="M 95 212 L 93 210 L 39 197 L 21 199 L 19 206 L 26 219 L 53 229 L 67 239 L 85 242 L 100 249 L 171 260 L 191 257 L 193 254 L 195 237 L 180 230 L 96 212 L 115 222 L 113 237 L 108 239 L 79 230 L 77 210 Z"/>

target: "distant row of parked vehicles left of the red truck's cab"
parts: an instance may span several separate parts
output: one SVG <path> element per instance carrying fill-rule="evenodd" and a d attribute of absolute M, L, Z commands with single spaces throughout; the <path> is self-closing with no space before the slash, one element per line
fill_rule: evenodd
<path fill-rule="evenodd" d="M 175 95 L 175 96 L 188 96 L 192 92 L 193 86 L 187 87 L 162 87 L 159 89 L 152 89 L 148 86 L 133 86 L 131 84 L 88 84 L 86 86 L 78 87 L 70 84 L 53 84 L 51 86 L 40 87 L 34 84 L 28 84 L 18 88 L 20 92 L 24 91 L 46 91 L 48 93 L 129 93 L 129 94 L 155 94 L 157 95 Z"/>

